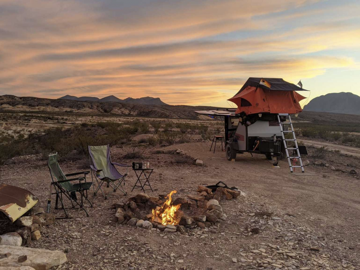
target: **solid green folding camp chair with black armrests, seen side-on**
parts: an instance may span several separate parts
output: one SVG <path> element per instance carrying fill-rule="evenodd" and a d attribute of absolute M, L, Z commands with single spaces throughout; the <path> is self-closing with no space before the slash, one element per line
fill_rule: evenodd
<path fill-rule="evenodd" d="M 62 205 L 62 207 L 60 207 L 60 209 L 64 210 L 66 218 L 69 217 L 66 212 L 66 209 L 68 209 L 68 208 L 80 208 L 85 211 L 86 216 L 89 216 L 89 214 L 87 213 L 87 211 L 84 207 L 83 198 L 85 198 L 86 201 L 88 201 L 90 203 L 90 207 L 93 207 L 93 205 L 87 198 L 87 190 L 89 190 L 91 188 L 91 186 L 93 185 L 93 182 L 86 182 L 86 175 L 89 174 L 90 171 L 75 172 L 73 174 L 65 174 L 64 175 L 64 173 L 61 170 L 59 163 L 58 163 L 58 153 L 49 155 L 48 166 L 49 166 L 49 170 L 50 170 L 51 180 L 53 182 L 50 184 L 48 211 L 47 212 L 50 212 L 51 194 L 56 194 L 55 209 L 58 209 L 58 201 L 60 200 L 61 205 Z M 84 174 L 84 176 L 71 178 L 71 179 L 66 178 L 67 176 L 75 176 L 75 175 L 80 175 L 80 174 Z M 57 181 L 54 181 L 53 175 L 55 176 Z M 75 180 L 79 181 L 79 183 L 71 184 L 71 181 L 75 181 Z M 84 181 L 84 182 L 81 183 L 82 181 Z M 54 188 L 55 188 L 54 193 L 51 193 L 52 186 L 54 186 Z M 81 197 L 80 203 L 78 202 L 78 199 L 76 197 L 76 192 L 80 193 L 80 197 Z M 63 195 L 65 195 L 65 197 L 67 197 L 70 200 L 72 207 L 64 206 Z M 75 207 L 73 202 L 75 202 L 78 205 L 78 207 Z"/>

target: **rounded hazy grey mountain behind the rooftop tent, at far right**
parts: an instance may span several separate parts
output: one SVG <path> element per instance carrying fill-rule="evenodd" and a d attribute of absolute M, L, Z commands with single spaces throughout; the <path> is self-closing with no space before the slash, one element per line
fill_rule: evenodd
<path fill-rule="evenodd" d="M 330 93 L 312 99 L 303 110 L 360 115 L 360 96 L 345 92 Z"/>

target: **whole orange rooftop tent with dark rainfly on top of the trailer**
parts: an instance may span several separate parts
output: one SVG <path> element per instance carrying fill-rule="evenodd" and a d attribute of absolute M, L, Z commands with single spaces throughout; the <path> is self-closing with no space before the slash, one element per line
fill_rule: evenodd
<path fill-rule="evenodd" d="M 235 113 L 299 113 L 302 111 L 299 102 L 305 97 L 295 91 L 307 90 L 281 78 L 248 78 L 229 100 L 238 105 Z"/>

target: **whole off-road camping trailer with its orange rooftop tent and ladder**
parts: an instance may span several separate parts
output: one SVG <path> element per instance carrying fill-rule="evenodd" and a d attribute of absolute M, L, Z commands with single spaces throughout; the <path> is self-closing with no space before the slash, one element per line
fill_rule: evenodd
<path fill-rule="evenodd" d="M 306 147 L 297 144 L 290 117 L 290 114 L 302 112 L 299 102 L 305 97 L 296 91 L 307 90 L 281 78 L 249 78 L 229 99 L 237 104 L 237 109 L 195 112 L 220 117 L 224 121 L 228 160 L 235 159 L 238 153 L 265 154 L 277 166 L 284 154 L 291 172 L 296 167 L 304 172 L 300 155 L 307 154 Z M 287 133 L 291 133 L 293 138 L 289 139 Z M 292 163 L 296 159 L 299 166 Z"/>

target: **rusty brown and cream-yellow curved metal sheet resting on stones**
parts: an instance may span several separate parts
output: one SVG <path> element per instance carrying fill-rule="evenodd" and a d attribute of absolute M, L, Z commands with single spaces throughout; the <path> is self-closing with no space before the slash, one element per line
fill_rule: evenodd
<path fill-rule="evenodd" d="M 0 212 L 12 222 L 24 215 L 38 201 L 39 199 L 26 189 L 0 184 Z"/>

